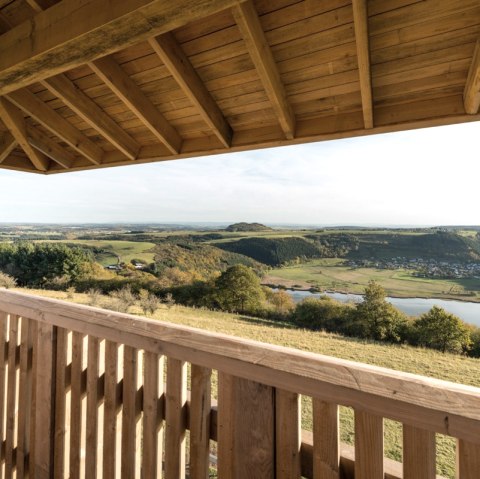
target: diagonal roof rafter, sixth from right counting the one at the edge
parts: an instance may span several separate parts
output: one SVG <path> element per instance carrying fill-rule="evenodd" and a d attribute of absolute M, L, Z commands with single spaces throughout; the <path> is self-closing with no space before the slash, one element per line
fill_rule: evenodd
<path fill-rule="evenodd" d="M 137 158 L 140 145 L 65 75 L 47 78 L 42 84 L 130 160 Z"/>

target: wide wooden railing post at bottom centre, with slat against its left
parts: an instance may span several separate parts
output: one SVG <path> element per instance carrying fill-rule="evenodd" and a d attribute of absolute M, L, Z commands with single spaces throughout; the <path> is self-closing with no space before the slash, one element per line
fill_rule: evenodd
<path fill-rule="evenodd" d="M 275 477 L 275 390 L 219 374 L 219 477 Z"/>

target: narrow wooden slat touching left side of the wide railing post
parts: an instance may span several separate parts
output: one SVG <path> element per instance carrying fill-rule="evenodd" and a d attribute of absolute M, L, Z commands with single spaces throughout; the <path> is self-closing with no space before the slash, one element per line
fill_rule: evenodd
<path fill-rule="evenodd" d="M 230 374 L 218 372 L 218 477 L 232 479 L 234 477 L 234 421 L 233 408 L 235 396 L 234 378 Z"/>

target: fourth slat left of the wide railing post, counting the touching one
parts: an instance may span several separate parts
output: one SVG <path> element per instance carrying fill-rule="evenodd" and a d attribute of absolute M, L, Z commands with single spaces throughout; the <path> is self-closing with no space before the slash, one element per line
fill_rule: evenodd
<path fill-rule="evenodd" d="M 155 353 L 144 353 L 143 371 L 143 449 L 142 478 L 155 479 L 161 471 L 161 456 L 159 456 L 159 357 Z M 161 379 L 163 381 L 163 377 Z"/>

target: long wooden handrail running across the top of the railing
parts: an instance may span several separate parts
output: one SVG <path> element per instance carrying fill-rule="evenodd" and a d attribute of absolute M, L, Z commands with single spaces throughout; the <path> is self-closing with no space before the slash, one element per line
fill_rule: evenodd
<path fill-rule="evenodd" d="M 480 442 L 479 388 L 6 290 L 0 310 Z"/>

